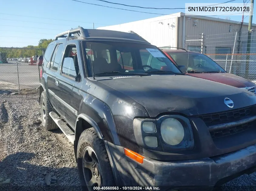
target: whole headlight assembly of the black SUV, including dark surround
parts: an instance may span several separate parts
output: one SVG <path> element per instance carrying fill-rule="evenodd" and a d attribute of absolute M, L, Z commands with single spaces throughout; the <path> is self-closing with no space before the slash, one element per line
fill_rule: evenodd
<path fill-rule="evenodd" d="M 153 151 L 182 151 L 194 149 L 190 120 L 181 115 L 164 115 L 157 119 L 135 118 L 134 136 L 143 149 Z"/>

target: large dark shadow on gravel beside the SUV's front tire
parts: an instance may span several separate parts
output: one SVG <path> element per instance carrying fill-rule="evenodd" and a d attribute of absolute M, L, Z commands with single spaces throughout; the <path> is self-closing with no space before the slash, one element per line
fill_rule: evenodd
<path fill-rule="evenodd" d="M 36 155 L 33 153 L 17 152 L 0 161 L 0 179 L 3 178 L 1 182 L 8 178 L 11 179 L 8 184 L 0 182 L 0 190 L 81 190 L 77 168 L 54 168 L 30 164 L 30 160 L 33 158 L 36 159 Z M 51 183 L 50 185 L 46 184 L 48 181 Z"/>

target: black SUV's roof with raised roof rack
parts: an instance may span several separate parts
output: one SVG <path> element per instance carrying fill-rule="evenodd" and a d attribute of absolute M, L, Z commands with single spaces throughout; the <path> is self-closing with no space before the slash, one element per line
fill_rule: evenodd
<path fill-rule="evenodd" d="M 134 33 L 133 31 L 131 31 L 130 33 L 125 33 L 115 30 L 84 29 L 83 27 L 78 27 L 57 34 L 55 40 L 58 40 L 58 38 L 65 37 L 77 37 L 81 40 L 129 40 L 150 44 L 148 41 L 146 41 L 144 38 Z"/>

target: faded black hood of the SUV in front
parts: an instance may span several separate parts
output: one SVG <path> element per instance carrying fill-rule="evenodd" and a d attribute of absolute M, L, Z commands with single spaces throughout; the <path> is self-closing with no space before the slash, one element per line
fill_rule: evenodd
<path fill-rule="evenodd" d="M 150 117 L 160 113 L 201 115 L 256 104 L 255 94 L 188 75 L 129 76 L 98 81 L 141 104 Z M 234 107 L 224 104 L 233 100 Z"/>

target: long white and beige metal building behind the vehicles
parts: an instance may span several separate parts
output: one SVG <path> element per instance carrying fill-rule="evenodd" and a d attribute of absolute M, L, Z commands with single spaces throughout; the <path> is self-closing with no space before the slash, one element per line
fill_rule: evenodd
<path fill-rule="evenodd" d="M 228 19 L 185 15 L 184 13 L 179 12 L 141 21 L 98 27 L 98 29 L 123 32 L 132 30 L 155 46 L 173 46 L 182 48 L 188 48 L 188 46 L 190 46 L 189 48 L 191 50 L 193 50 L 193 46 L 194 49 L 201 49 L 201 47 L 198 46 L 198 44 L 195 46 L 195 43 L 189 44 L 186 39 L 198 39 L 198 37 L 204 33 L 204 35 L 208 36 L 209 41 L 214 38 L 222 38 L 218 41 L 211 40 L 214 41 L 213 43 L 208 42 L 208 51 L 204 51 L 204 53 L 232 53 L 235 32 L 239 31 L 240 24 L 241 23 L 238 21 L 231 21 Z M 243 23 L 241 32 L 244 32 L 245 34 L 247 30 L 248 23 Z M 256 24 L 252 24 L 252 30 L 256 30 Z M 255 41 L 255 39 L 252 40 Z M 229 43 L 227 43 L 228 41 Z M 240 43 L 240 53 L 245 53 L 247 33 L 246 35 L 241 35 Z M 235 46 L 237 47 L 238 45 L 236 44 Z M 204 48 L 207 49 L 206 46 Z"/>

